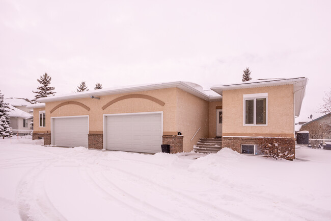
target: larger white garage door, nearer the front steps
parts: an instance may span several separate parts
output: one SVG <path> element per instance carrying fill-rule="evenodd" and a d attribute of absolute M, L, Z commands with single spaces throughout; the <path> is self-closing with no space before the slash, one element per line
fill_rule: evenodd
<path fill-rule="evenodd" d="M 161 113 L 109 115 L 105 116 L 105 126 L 107 150 L 161 152 Z"/>

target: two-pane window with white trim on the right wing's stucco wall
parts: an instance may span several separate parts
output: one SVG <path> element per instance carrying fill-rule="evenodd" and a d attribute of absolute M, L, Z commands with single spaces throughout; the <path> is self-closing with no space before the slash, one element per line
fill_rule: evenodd
<path fill-rule="evenodd" d="M 267 125 L 268 93 L 244 94 L 243 103 L 244 125 Z"/>

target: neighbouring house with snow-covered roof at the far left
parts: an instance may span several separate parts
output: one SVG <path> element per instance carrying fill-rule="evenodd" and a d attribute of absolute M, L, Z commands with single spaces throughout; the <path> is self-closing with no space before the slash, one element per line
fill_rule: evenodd
<path fill-rule="evenodd" d="M 5 102 L 8 103 L 9 107 L 9 119 L 10 127 L 12 128 L 13 134 L 17 134 L 15 130 L 21 130 L 19 135 L 29 134 L 26 130 L 33 130 L 31 125 L 32 120 L 30 119 L 33 114 L 30 113 L 33 109 L 27 108 L 26 106 L 31 105 L 31 102 L 28 99 L 10 97 L 5 99 Z"/>

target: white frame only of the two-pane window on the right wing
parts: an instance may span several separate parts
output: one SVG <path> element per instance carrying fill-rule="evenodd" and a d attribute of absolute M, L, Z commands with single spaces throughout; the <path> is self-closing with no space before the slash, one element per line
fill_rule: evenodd
<path fill-rule="evenodd" d="M 256 99 L 265 98 L 265 125 L 256 124 Z M 253 124 L 246 124 L 246 100 L 254 100 L 254 122 Z M 243 126 L 268 126 L 268 93 L 252 93 L 252 94 L 243 94 Z"/>

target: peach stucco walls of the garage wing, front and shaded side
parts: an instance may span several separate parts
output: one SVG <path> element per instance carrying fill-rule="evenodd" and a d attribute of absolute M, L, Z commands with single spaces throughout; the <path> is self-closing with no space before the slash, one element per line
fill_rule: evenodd
<path fill-rule="evenodd" d="M 102 110 L 102 107 L 108 102 L 117 99 L 120 96 L 129 94 L 149 95 L 164 102 L 165 104 L 164 106 L 161 106 L 150 100 L 130 98 L 116 102 Z M 68 104 L 59 107 L 50 113 L 54 107 L 67 101 L 80 102 L 89 107 L 90 110 L 88 111 L 78 105 Z M 193 145 L 197 143 L 199 138 L 208 137 L 208 103 L 209 102 L 178 88 L 105 95 L 100 96 L 100 100 L 84 98 L 49 102 L 46 103 L 45 109 L 35 109 L 34 111 L 35 132 L 50 132 L 51 117 L 89 115 L 89 133 L 94 134 L 102 133 L 103 131 L 103 114 L 162 111 L 163 135 L 177 135 L 177 132 L 182 132 L 183 151 L 189 152 L 192 150 Z M 44 128 L 39 127 L 39 111 L 41 110 L 46 111 L 46 127 Z M 199 132 L 191 141 L 191 138 L 197 132 L 199 127 Z M 214 136 L 215 135 L 212 137 Z"/>

